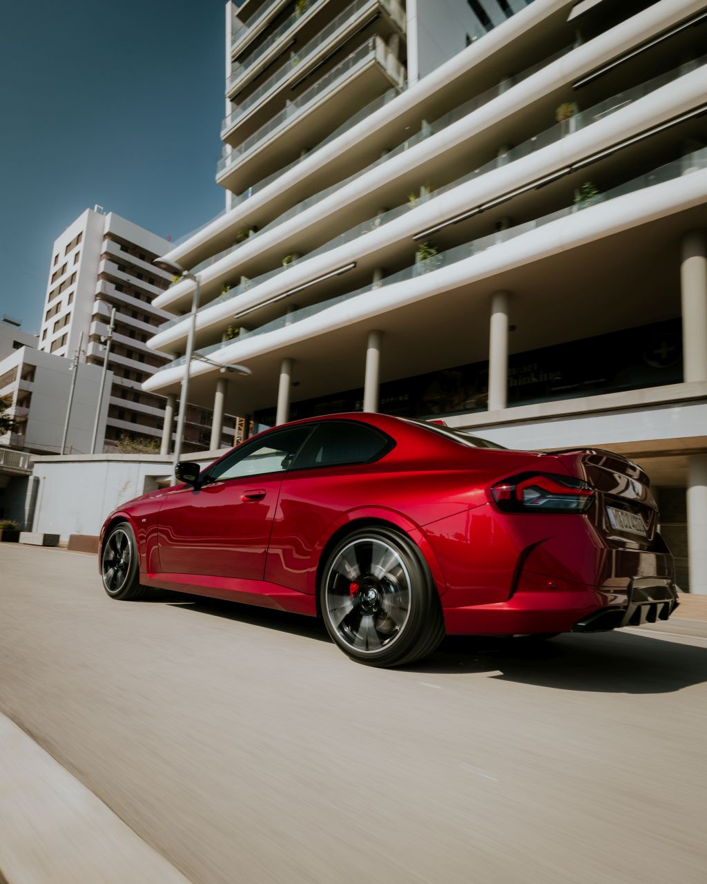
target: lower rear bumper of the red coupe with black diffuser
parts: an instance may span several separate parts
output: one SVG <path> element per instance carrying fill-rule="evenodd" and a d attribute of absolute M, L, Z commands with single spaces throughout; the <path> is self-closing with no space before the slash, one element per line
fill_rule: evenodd
<path fill-rule="evenodd" d="M 672 578 L 634 577 L 621 590 L 518 592 L 505 602 L 443 609 L 450 635 L 599 632 L 667 620 L 678 606 Z"/>

